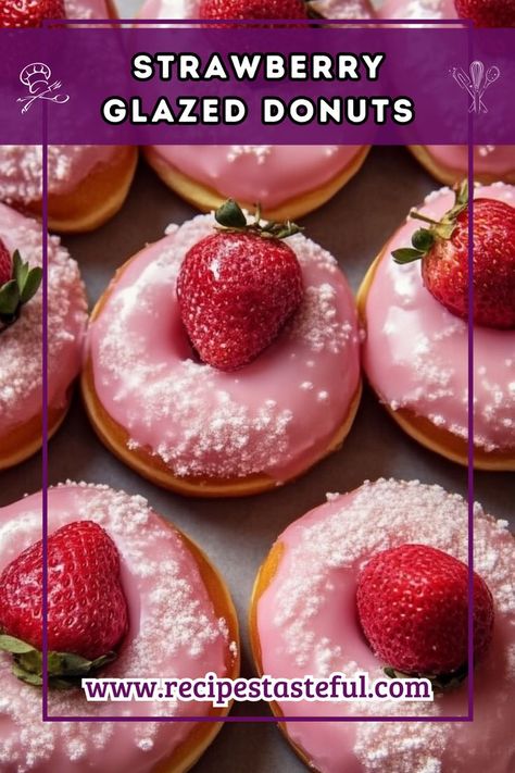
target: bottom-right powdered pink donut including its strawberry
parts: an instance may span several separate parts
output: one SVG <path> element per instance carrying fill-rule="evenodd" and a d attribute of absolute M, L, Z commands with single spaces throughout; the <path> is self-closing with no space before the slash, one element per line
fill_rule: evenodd
<path fill-rule="evenodd" d="M 474 722 L 460 722 L 472 669 L 467 503 L 440 486 L 393 479 L 327 499 L 278 536 L 250 609 L 258 672 L 325 686 L 311 699 L 272 702 L 292 720 L 281 728 L 293 749 L 317 773 L 512 773 L 515 540 L 506 522 L 475 506 Z M 395 700 L 413 676 L 432 698 Z M 343 678 L 354 680 L 344 690 Z M 323 721 L 332 716 L 347 721 Z M 317 721 L 296 721 L 306 718 Z"/>

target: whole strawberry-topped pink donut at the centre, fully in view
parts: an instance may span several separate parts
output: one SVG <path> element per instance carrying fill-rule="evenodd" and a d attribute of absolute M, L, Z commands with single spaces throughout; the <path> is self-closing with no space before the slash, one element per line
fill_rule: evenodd
<path fill-rule="evenodd" d="M 83 394 L 123 461 L 193 496 L 300 475 L 347 436 L 361 395 L 352 294 L 291 222 L 234 201 L 118 270 L 88 334 Z"/>

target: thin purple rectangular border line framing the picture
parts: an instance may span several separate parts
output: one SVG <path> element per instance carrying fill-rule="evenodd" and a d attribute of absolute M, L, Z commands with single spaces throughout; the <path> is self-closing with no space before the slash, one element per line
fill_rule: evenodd
<path fill-rule="evenodd" d="M 86 24 L 91 24 L 91 20 L 58 20 L 66 23 L 67 26 L 81 26 Z M 261 23 L 269 22 L 271 24 L 284 24 L 291 23 L 291 20 L 260 20 Z M 302 24 L 313 24 L 313 20 L 298 20 Z M 473 52 L 473 23 L 466 20 L 326 20 L 326 22 L 336 25 L 349 26 L 349 25 L 425 25 L 425 26 L 445 26 L 453 25 L 467 29 L 468 33 L 468 54 L 469 61 L 472 61 Z M 205 20 L 136 20 L 138 24 L 152 24 L 152 25 L 169 25 L 172 24 L 203 24 L 205 25 Z M 49 20 L 45 20 L 42 27 L 48 29 L 50 24 Z M 223 24 L 234 24 L 231 20 L 219 20 L 216 22 L 218 26 Z M 238 24 L 252 25 L 255 22 L 252 20 L 238 20 Z M 55 21 L 53 21 L 55 24 Z M 135 20 L 95 20 L 95 25 L 134 25 Z M 296 20 L 297 25 L 297 20 Z M 468 324 L 468 335 L 467 335 L 467 349 L 468 349 L 468 439 L 467 439 L 467 497 L 468 497 L 468 662 L 473 664 L 469 669 L 467 678 L 467 709 L 468 713 L 466 716 L 50 716 L 48 713 L 48 598 L 47 598 L 47 587 L 48 587 L 48 416 L 47 416 L 47 404 L 48 404 L 48 325 L 47 325 L 47 312 L 48 312 L 48 248 L 46 234 L 48 232 L 48 122 L 47 122 L 47 105 L 43 105 L 42 111 L 42 229 L 43 229 L 43 282 L 42 282 L 42 301 L 43 301 L 43 346 L 42 346 L 42 367 L 43 367 L 43 388 L 42 388 L 42 399 L 43 399 L 43 412 L 42 412 L 42 553 L 43 553 L 43 572 L 42 572 L 42 721 L 43 722 L 222 722 L 222 723 L 278 723 L 278 722 L 474 722 L 474 324 Z M 472 198 L 470 203 L 470 215 L 468 220 L 468 319 L 473 319 L 474 309 L 474 287 L 473 287 L 473 271 L 474 271 L 474 250 L 473 250 L 473 234 L 474 234 L 474 113 L 468 114 L 468 186 Z"/>

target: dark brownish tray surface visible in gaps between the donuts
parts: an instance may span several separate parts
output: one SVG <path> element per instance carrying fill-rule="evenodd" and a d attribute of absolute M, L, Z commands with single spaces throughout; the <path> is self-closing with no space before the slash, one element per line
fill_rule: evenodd
<path fill-rule="evenodd" d="M 402 148 L 375 148 L 357 176 L 318 212 L 303 220 L 306 234 L 340 261 L 354 290 L 386 239 L 410 207 L 439 187 Z M 180 223 L 194 211 L 167 190 L 140 163 L 123 211 L 111 223 L 87 236 L 64 242 L 79 262 L 93 303 L 116 266 L 145 242 L 159 239 L 171 222 Z M 407 335 L 407 332 L 406 332 Z M 242 673 L 253 666 L 247 640 L 247 612 L 255 572 L 277 535 L 292 520 L 325 499 L 326 491 L 347 491 L 365 478 L 394 476 L 439 483 L 466 495 L 466 470 L 426 451 L 389 419 L 375 396 L 365 389 L 352 432 L 343 448 L 300 481 L 250 499 L 184 499 L 147 483 L 112 457 L 91 431 L 78 394 L 62 429 L 50 442 L 50 483 L 105 483 L 142 494 L 152 507 L 196 539 L 219 568 L 233 593 L 242 628 Z M 40 454 L 1 474 L 0 504 L 40 487 Z M 477 473 L 476 499 L 515 526 L 513 473 Z M 264 714 L 265 706 L 238 706 L 235 713 Z M 288 771 L 303 765 L 272 725 L 227 725 L 196 766 L 212 770 Z"/>

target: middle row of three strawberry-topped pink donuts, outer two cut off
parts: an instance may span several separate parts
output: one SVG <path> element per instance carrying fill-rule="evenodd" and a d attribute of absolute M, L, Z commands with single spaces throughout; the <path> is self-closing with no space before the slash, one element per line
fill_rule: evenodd
<path fill-rule="evenodd" d="M 475 463 L 489 470 L 515 467 L 514 192 L 503 183 L 474 191 Z M 264 223 L 229 201 L 130 258 L 89 326 L 78 266 L 49 237 L 49 432 L 81 371 L 97 433 L 137 472 L 181 494 L 255 494 L 341 446 L 362 359 L 393 419 L 465 464 L 467 229 L 466 187 L 428 196 L 370 265 L 356 307 L 327 250 L 296 224 Z M 41 263 L 40 225 L 1 204 L 0 239 L 8 467 L 41 444 L 41 290 L 1 313 L 16 255 Z"/>

